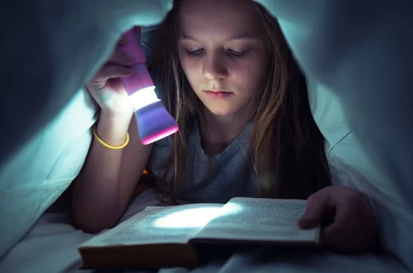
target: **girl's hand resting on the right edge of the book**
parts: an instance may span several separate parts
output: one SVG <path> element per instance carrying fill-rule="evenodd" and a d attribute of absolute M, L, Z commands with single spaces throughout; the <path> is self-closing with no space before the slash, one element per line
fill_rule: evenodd
<path fill-rule="evenodd" d="M 322 242 L 326 248 L 355 253 L 379 245 L 379 227 L 367 201 L 352 188 L 329 186 L 307 199 L 300 228 L 324 226 Z"/>

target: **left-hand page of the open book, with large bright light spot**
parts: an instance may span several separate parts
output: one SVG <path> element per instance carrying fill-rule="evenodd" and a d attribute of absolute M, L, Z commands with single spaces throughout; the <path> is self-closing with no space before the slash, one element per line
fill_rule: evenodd
<path fill-rule="evenodd" d="M 83 243 L 81 247 L 187 243 L 222 204 L 147 207 L 118 226 Z"/>

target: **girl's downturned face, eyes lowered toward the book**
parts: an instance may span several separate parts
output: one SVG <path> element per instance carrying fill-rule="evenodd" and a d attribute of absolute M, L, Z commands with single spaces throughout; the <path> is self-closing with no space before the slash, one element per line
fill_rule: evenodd
<path fill-rule="evenodd" d="M 237 113 L 260 87 L 270 58 L 248 0 L 182 0 L 178 50 L 189 83 L 215 115 Z"/>

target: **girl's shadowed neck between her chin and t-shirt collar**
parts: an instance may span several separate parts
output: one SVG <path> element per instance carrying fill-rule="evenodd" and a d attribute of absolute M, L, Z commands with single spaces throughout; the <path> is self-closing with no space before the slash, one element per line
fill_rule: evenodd
<path fill-rule="evenodd" d="M 246 126 L 246 115 L 233 113 L 215 115 L 204 108 L 202 117 L 202 139 L 204 150 L 211 154 L 221 153 L 231 144 Z"/>

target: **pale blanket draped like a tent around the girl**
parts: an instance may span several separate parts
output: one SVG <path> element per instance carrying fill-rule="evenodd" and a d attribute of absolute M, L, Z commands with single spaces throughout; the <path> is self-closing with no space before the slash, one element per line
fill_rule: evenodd
<path fill-rule="evenodd" d="M 29 60 L 32 65 L 29 68 L 32 68 L 33 72 L 49 71 L 47 69 L 52 67 L 56 74 L 52 76 L 52 84 L 50 84 L 50 74 L 26 73 L 25 76 L 20 73 L 20 70 L 17 73 L 18 80 L 15 78 L 5 79 L 5 94 L 14 96 L 6 100 L 10 102 L 10 105 L 5 109 L 10 110 L 10 113 L 2 115 L 1 118 L 5 118 L 6 121 L 10 121 L 10 119 L 20 121 L 21 123 L 16 122 L 16 124 L 22 124 L 20 130 L 23 131 L 23 135 L 30 133 L 32 127 L 28 125 L 33 122 L 33 119 L 30 114 L 21 115 L 21 109 L 24 107 L 23 102 L 27 101 L 27 104 L 32 102 L 21 100 L 20 91 L 29 91 L 28 93 L 33 94 L 32 88 L 35 86 L 37 87 L 36 92 L 39 92 L 35 93 L 36 96 L 39 94 L 39 98 L 43 98 L 40 96 L 41 94 L 45 95 L 53 90 L 53 95 L 50 94 L 53 103 L 50 103 L 49 108 L 44 110 L 43 120 L 45 120 L 44 116 L 53 112 L 53 109 L 56 113 L 56 109 L 60 109 L 70 94 L 96 71 L 118 39 L 118 34 L 125 30 L 127 23 L 123 22 L 125 24 L 120 26 L 122 24 L 116 23 L 116 19 L 145 19 L 145 21 L 153 19 L 153 14 L 139 17 L 135 14 L 135 10 L 142 11 L 143 8 L 151 6 L 149 3 L 154 1 L 100 1 L 99 8 L 96 8 L 92 2 L 84 0 L 59 1 L 59 3 L 45 0 L 26 2 L 25 5 L 31 4 L 32 6 L 26 5 L 23 10 L 15 8 L 14 10 L 18 10 L 17 14 L 13 14 L 12 9 L 4 9 L 4 18 L 7 19 L 6 15 L 12 17 L 9 18 L 10 22 L 15 23 L 19 20 L 23 22 L 21 20 L 23 17 L 33 19 L 33 21 L 30 28 L 20 23 L 17 25 L 20 31 L 10 32 L 9 29 L 6 29 L 4 32 L 6 38 L 3 44 L 7 46 L 3 52 L 7 52 L 7 54 L 2 59 L 2 71 L 6 71 L 5 75 L 8 75 L 10 71 L 17 71 L 12 70 L 12 67 L 19 67 L 15 65 L 16 63 L 27 63 Z M 342 124 L 345 115 L 335 112 L 335 109 L 339 108 L 332 107 L 328 96 L 324 96 L 332 92 L 326 90 L 326 92 L 321 93 L 319 85 L 315 85 L 313 91 L 309 90 L 310 100 L 317 102 L 312 105 L 315 120 L 330 145 L 329 159 L 335 171 L 336 182 L 346 182 L 346 184 L 359 188 L 372 197 L 372 204 L 383 228 L 385 247 L 413 268 L 413 236 L 409 235 L 413 227 L 413 206 L 410 198 L 412 196 L 412 168 L 410 167 L 411 163 L 408 163 L 412 162 L 408 159 L 412 158 L 413 153 L 410 153 L 409 150 L 411 146 L 406 146 L 406 144 L 411 143 L 410 138 L 405 139 L 407 133 L 404 135 L 394 133 L 407 132 L 409 128 L 412 128 L 407 126 L 411 124 L 411 120 L 403 116 L 409 113 L 409 109 L 412 109 L 407 104 L 410 100 L 404 99 L 410 93 L 403 92 L 407 88 L 403 84 L 410 82 L 406 78 L 411 77 L 412 74 L 408 73 L 411 70 L 408 70 L 407 65 L 403 65 L 405 62 L 401 60 L 401 58 L 407 60 L 409 56 L 412 56 L 412 47 L 410 47 L 412 40 L 405 39 L 411 37 L 406 34 L 410 33 L 407 20 L 411 19 L 408 16 L 409 10 L 412 10 L 411 2 L 376 1 L 371 3 L 368 10 L 362 10 L 362 5 L 359 6 L 362 1 L 356 0 L 335 1 L 335 5 L 331 5 L 333 2 L 327 0 L 311 3 L 303 0 L 262 0 L 260 2 L 266 3 L 269 10 L 279 12 L 284 34 L 286 34 L 301 65 L 304 64 L 307 71 L 313 72 L 310 75 L 319 75 L 319 79 L 324 79 L 326 83 L 330 82 L 330 87 L 334 89 L 335 94 L 341 94 L 343 98 L 346 98 L 342 102 L 352 101 L 359 104 L 359 107 L 354 107 L 354 111 L 346 113 L 347 118 L 353 120 L 353 125 L 358 124 L 354 128 L 359 129 L 359 137 L 364 140 L 372 140 L 371 143 L 367 142 L 369 145 L 387 148 L 381 149 L 382 151 L 377 158 L 367 158 L 364 150 L 366 148 L 362 149 L 359 140 L 354 138 L 350 130 L 346 131 L 346 127 Z M 16 3 L 21 6 L 21 3 Z M 52 3 L 55 5 L 53 6 Z M 48 9 L 43 8 L 46 4 Z M 273 5 L 277 5 L 277 7 L 271 8 Z M 32 12 L 32 10 L 41 12 L 38 18 L 30 17 L 28 11 Z M 52 12 L 54 10 L 60 12 L 64 10 L 65 12 L 58 14 Z M 348 14 L 352 14 L 351 11 L 354 10 L 361 12 L 359 17 L 348 19 Z M 363 14 L 363 11 L 366 13 Z M 122 14 L 129 14 L 129 17 L 122 16 Z M 374 17 L 374 14 L 378 15 Z M 288 21 L 288 18 L 291 20 Z M 354 50 L 342 48 L 346 43 L 341 43 L 339 39 L 340 37 L 341 39 L 348 37 L 346 35 L 348 32 L 342 29 L 348 24 L 353 26 L 350 34 L 355 35 L 354 38 L 357 38 L 357 35 L 366 37 L 364 39 L 366 43 L 357 43 L 359 47 L 355 47 Z M 45 25 L 48 28 L 45 28 Z M 6 26 L 8 24 L 3 24 L 3 27 Z M 372 29 L 369 29 L 369 26 Z M 369 33 L 371 36 L 363 36 L 363 32 Z M 87 40 L 84 39 L 85 33 L 88 34 Z M 89 37 L 91 33 L 94 35 Z M 328 33 L 338 36 L 326 35 Z M 41 43 L 35 43 L 40 34 L 45 39 L 44 41 L 50 43 L 50 49 Z M 58 36 L 55 36 L 56 34 Z M 20 41 L 22 36 L 26 37 L 28 41 L 32 41 L 31 50 L 26 50 L 25 43 L 16 42 Z M 404 40 L 400 40 L 403 38 Z M 39 39 L 39 41 L 43 40 Z M 405 43 L 398 43 L 398 41 Z M 395 45 L 397 48 L 393 50 Z M 45 50 L 46 48 L 49 51 Z M 74 52 L 76 52 L 77 58 L 74 58 Z M 318 56 L 320 61 L 317 61 L 317 54 L 321 55 Z M 11 58 L 6 58 L 8 56 Z M 368 58 L 372 58 L 372 56 L 374 56 L 374 60 L 369 61 Z M 343 60 L 348 61 L 343 65 L 338 65 L 339 61 Z M 320 63 L 321 65 L 317 67 L 316 64 Z M 368 64 L 370 66 L 367 66 Z M 315 67 L 313 67 L 314 65 Z M 332 65 L 343 70 L 335 71 L 332 69 Z M 74 67 L 76 67 L 76 73 L 71 70 Z M 408 66 L 409 69 L 411 67 Z M 401 69 L 406 70 L 401 71 Z M 334 72 L 336 72 L 337 77 L 326 80 Z M 67 75 L 71 76 L 70 80 L 64 80 Z M 381 78 L 386 80 L 379 80 Z M 7 91 L 8 87 L 12 87 L 12 91 Z M 363 96 L 356 97 L 355 94 Z M 379 101 L 374 104 L 368 103 L 374 99 Z M 322 107 L 321 102 L 325 102 L 324 107 L 330 105 L 330 110 Z M 41 105 L 39 101 L 38 105 Z M 337 103 L 334 105 L 335 107 L 339 106 Z M 360 105 L 365 107 L 360 107 Z M 376 108 L 372 111 L 374 105 Z M 351 105 L 347 104 L 347 106 Z M 15 111 L 11 111 L 12 109 Z M 355 111 L 355 109 L 359 109 L 359 111 Z M 387 111 L 383 111 L 383 109 Z M 21 239 L 43 211 L 61 195 L 72 179 L 76 177 L 92 140 L 90 127 L 96 120 L 95 111 L 96 109 L 87 94 L 83 91 L 78 92 L 72 103 L 63 109 L 52 124 L 35 135 L 28 144 L 22 147 L 19 153 L 2 166 L 3 169 L 0 170 L 0 256 Z M 386 114 L 380 114 L 382 112 Z M 33 113 L 33 111 L 28 111 L 28 113 Z M 370 119 L 368 124 L 354 121 L 360 121 L 361 116 L 365 116 L 365 118 L 370 116 L 374 119 Z M 377 117 L 381 117 L 381 119 L 384 117 L 384 119 L 381 120 Z M 382 128 L 378 124 L 383 122 L 391 125 L 385 132 L 378 129 Z M 404 125 L 403 122 L 405 122 Z M 3 131 L 8 131 L 8 127 L 6 127 L 8 124 L 13 123 L 2 123 Z M 362 125 L 368 126 L 361 129 Z M 17 133 L 21 133 L 21 131 L 15 130 Z M 8 146 L 8 140 L 21 138 L 21 135 L 3 134 L 3 137 L 8 137 L 3 141 L 3 147 Z M 377 136 L 386 136 L 387 138 L 377 140 Z M 372 146 L 370 146 L 370 151 L 374 151 Z M 375 165 L 372 162 L 387 162 L 388 164 L 385 165 L 392 169 L 389 171 L 389 169 L 383 168 L 383 165 Z M 377 166 L 381 166 L 381 168 Z M 355 172 L 349 171 L 350 169 L 354 169 Z M 386 172 L 391 177 L 386 177 L 384 175 Z M 360 175 L 354 176 L 354 173 Z M 53 217 L 61 217 L 61 215 L 43 215 L 41 221 L 37 223 L 30 234 L 18 243 L 3 261 L 0 261 L 0 263 L 2 262 L 1 272 L 13 272 L 13 268 L 17 269 L 16 266 L 19 267 L 18 272 L 25 272 L 24 268 L 30 272 L 36 272 L 41 267 L 43 267 L 42 272 L 59 272 L 59 270 L 64 270 L 65 266 L 70 266 L 78 261 L 75 245 L 78 245 L 89 235 L 73 230 L 64 222 L 59 222 L 60 220 L 56 223 Z M 62 241 L 58 241 L 58 239 Z M 72 258 L 70 258 L 70 253 L 74 255 Z M 331 260 L 328 257 L 331 256 L 326 254 L 318 261 L 324 261 L 328 264 L 328 261 Z M 348 258 L 334 257 L 343 263 L 337 263 L 337 266 L 347 271 L 343 261 L 348 261 Z M 317 264 L 316 258 L 308 257 L 307 259 L 310 258 L 312 263 Z M 286 258 L 286 261 L 288 259 L 296 258 L 291 256 Z M 304 258 L 302 259 L 305 261 Z M 359 258 L 352 259 L 359 261 Z M 374 264 L 372 261 L 376 257 L 371 261 L 370 259 L 373 258 L 364 257 L 363 263 Z M 279 262 L 277 260 L 277 263 Z M 276 262 L 272 261 L 268 264 L 273 263 Z M 54 264 L 56 267 L 52 268 Z M 39 266 L 36 267 L 37 265 Z M 231 263 L 225 263 L 223 268 L 227 268 L 226 266 L 231 268 Z M 288 266 L 295 267 L 290 263 Z M 245 268 L 249 267 L 245 265 Z M 362 268 L 362 266 L 357 268 Z M 390 272 L 392 271 L 396 272 L 397 270 L 390 270 Z"/>

